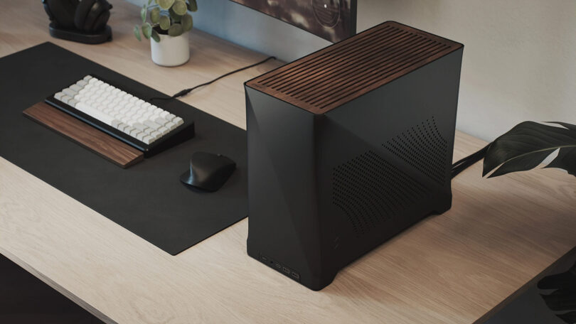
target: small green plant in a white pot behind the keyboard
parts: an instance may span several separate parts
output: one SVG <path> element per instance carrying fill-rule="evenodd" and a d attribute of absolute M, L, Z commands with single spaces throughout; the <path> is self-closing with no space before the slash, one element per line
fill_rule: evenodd
<path fill-rule="evenodd" d="M 190 59 L 188 31 L 193 26 L 188 11 L 197 11 L 196 0 L 148 0 L 140 11 L 142 25 L 134 26 L 134 36 L 150 40 L 152 61 L 157 65 L 182 65 Z M 149 21 L 146 21 L 149 18 Z"/>

